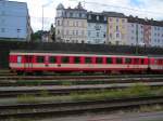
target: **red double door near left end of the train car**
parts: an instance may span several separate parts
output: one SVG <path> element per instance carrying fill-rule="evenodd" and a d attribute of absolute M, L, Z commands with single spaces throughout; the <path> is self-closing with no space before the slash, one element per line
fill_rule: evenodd
<path fill-rule="evenodd" d="M 25 55 L 25 69 L 33 68 L 33 55 Z"/>

